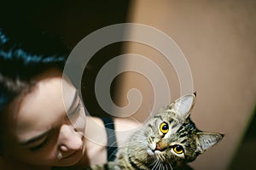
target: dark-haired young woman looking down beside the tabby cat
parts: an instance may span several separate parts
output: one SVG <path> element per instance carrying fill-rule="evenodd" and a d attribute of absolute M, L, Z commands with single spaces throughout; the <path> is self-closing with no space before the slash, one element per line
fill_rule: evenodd
<path fill-rule="evenodd" d="M 0 31 L 0 169 L 79 169 L 103 163 L 114 155 L 115 148 L 106 146 L 129 137 L 116 133 L 115 141 L 108 138 L 114 134 L 109 129 L 138 126 L 85 116 L 78 90 L 62 77 L 67 55 L 55 55 L 48 47 L 36 54 Z"/>

